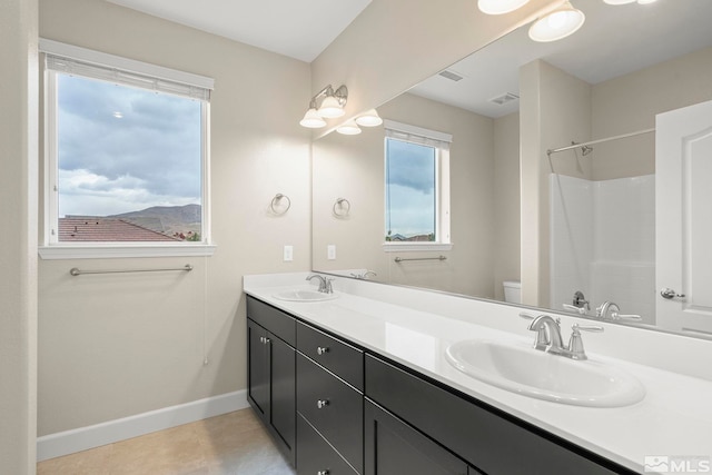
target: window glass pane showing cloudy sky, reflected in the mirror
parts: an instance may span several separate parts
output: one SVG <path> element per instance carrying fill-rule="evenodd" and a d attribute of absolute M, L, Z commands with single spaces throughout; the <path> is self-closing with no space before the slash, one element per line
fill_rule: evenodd
<path fill-rule="evenodd" d="M 436 149 L 386 139 L 386 240 L 434 241 Z"/>

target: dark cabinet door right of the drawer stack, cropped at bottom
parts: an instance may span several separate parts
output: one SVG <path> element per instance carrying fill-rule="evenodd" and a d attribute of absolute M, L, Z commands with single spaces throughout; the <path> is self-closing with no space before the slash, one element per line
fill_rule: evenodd
<path fill-rule="evenodd" d="M 368 398 L 365 420 L 365 475 L 467 475 L 465 462 Z"/>

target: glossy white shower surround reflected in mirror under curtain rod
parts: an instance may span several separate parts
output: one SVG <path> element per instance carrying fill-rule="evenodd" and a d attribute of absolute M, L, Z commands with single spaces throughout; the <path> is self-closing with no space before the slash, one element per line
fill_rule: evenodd
<path fill-rule="evenodd" d="M 576 290 L 655 323 L 655 177 L 592 181 L 552 174 L 551 303 Z"/>

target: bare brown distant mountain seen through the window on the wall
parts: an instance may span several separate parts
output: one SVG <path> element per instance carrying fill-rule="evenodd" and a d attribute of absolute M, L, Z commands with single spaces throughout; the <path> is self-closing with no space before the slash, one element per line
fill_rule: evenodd
<path fill-rule="evenodd" d="M 200 232 L 202 207 L 200 205 L 151 206 L 140 211 L 122 212 L 107 216 L 107 218 L 120 218 L 168 236 L 176 234 L 187 236 L 188 232 Z"/>

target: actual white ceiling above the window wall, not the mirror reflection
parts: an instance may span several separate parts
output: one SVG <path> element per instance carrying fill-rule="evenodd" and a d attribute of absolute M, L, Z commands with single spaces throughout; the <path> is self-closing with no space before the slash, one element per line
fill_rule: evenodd
<path fill-rule="evenodd" d="M 107 0 L 312 62 L 370 0 Z"/>

